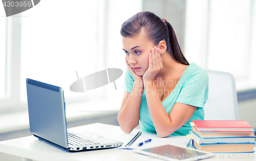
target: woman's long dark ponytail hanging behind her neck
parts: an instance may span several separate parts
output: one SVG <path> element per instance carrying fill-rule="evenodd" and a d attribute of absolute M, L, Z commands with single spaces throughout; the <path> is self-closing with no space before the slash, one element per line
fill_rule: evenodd
<path fill-rule="evenodd" d="M 178 63 L 189 65 L 188 61 L 186 60 L 181 51 L 173 26 L 170 25 L 170 23 L 166 19 L 162 19 L 162 21 L 164 21 L 168 28 L 169 46 L 167 48 L 170 56 L 172 56 L 172 58 Z"/>

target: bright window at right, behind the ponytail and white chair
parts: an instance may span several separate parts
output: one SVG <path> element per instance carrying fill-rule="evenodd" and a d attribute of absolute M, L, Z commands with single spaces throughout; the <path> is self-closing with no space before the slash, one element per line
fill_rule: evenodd
<path fill-rule="evenodd" d="M 187 1 L 185 55 L 190 62 L 231 73 L 237 90 L 256 87 L 253 1 Z"/>

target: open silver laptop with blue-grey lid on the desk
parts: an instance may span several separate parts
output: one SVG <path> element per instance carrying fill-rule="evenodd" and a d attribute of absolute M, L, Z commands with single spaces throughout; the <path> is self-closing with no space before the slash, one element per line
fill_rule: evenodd
<path fill-rule="evenodd" d="M 31 133 L 67 151 L 119 147 L 123 143 L 83 130 L 67 130 L 64 92 L 61 87 L 27 78 L 29 124 Z"/>

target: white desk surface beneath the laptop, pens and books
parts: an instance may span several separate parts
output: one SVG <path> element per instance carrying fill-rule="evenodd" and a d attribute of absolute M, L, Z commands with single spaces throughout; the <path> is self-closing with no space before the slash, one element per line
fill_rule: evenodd
<path fill-rule="evenodd" d="M 134 129 L 131 133 L 124 133 L 119 126 L 94 123 L 79 127 L 70 128 L 70 130 L 75 132 L 82 132 L 82 130 L 90 130 L 98 133 L 101 136 L 108 137 L 120 142 L 123 142 L 122 147 L 124 147 L 139 131 Z M 159 145 L 159 144 L 172 144 L 186 147 L 189 139 L 186 137 L 167 137 L 159 138 L 155 134 L 146 133 L 142 131 L 142 135 L 132 144 L 131 148 L 136 148 L 136 145 L 146 139 L 152 139 L 152 142 L 146 146 Z M 255 148 L 254 148 L 255 150 Z M 45 142 L 41 142 L 34 136 L 18 138 L 13 140 L 7 140 L 0 142 L 0 152 L 16 155 L 23 157 L 23 160 L 159 160 L 153 159 L 146 155 L 142 155 L 134 152 L 133 150 L 127 149 L 103 149 L 103 150 L 90 150 L 81 152 L 67 152 L 61 150 L 57 147 L 51 146 Z M 242 155 L 243 156 L 242 156 Z M 254 153 L 233 153 L 233 158 L 238 157 L 237 160 L 245 160 L 245 156 L 252 156 Z M 228 158 L 229 155 L 229 158 Z M 214 160 L 236 160 L 232 159 L 232 154 L 216 154 L 216 159 Z M 239 159 L 242 158 L 242 159 Z M 256 160 L 247 159 L 247 160 Z"/>

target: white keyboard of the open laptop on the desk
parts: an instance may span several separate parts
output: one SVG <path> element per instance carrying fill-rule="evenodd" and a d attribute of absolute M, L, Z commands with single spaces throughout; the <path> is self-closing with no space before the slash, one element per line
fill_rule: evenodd
<path fill-rule="evenodd" d="M 99 144 L 91 139 L 84 139 L 77 136 L 76 133 L 68 132 L 68 144 L 69 145 L 95 145 Z"/>

